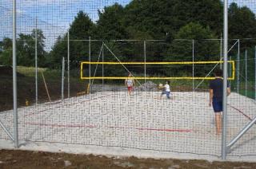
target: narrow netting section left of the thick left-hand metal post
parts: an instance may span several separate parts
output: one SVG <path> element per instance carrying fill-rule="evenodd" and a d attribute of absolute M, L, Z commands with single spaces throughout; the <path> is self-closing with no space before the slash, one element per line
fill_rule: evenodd
<path fill-rule="evenodd" d="M 12 109 L 13 97 L 12 97 L 12 69 L 10 66 L 12 63 L 12 4 L 10 2 L 0 2 L 0 14 L 2 16 L 0 23 L 0 109 L 1 112 L 7 109 Z M 10 96 L 9 98 L 6 96 Z M 10 104 L 8 104 L 10 103 Z M 11 112 L 1 113 L 1 133 L 0 138 L 4 140 L 11 140 L 14 134 L 14 116 Z M 10 136 L 8 136 L 8 134 Z"/>

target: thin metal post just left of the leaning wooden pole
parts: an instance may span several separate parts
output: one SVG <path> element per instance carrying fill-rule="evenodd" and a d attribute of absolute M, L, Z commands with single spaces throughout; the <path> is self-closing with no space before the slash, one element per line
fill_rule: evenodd
<path fill-rule="evenodd" d="M 38 105 L 38 18 L 35 18 L 34 33 L 35 105 Z"/>

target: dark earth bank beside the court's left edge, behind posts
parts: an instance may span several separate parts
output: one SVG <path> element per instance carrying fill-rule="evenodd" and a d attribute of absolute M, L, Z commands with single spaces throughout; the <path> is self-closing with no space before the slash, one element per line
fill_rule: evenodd
<path fill-rule="evenodd" d="M 6 68 L 5 72 L 0 73 L 0 112 L 13 108 L 13 77 L 12 69 Z M 79 78 L 70 81 L 70 96 L 77 96 L 78 92 L 85 90 L 86 85 Z M 67 80 L 66 80 L 67 81 Z M 51 100 L 61 99 L 62 82 L 61 77 L 50 78 L 46 77 L 46 84 L 50 92 Z M 67 96 L 67 83 L 65 82 L 65 93 Z M 26 100 L 29 104 L 35 103 L 35 79 L 34 77 L 25 76 L 21 73 L 17 75 L 17 100 L 18 107 L 26 105 Z M 41 74 L 38 74 L 38 103 L 49 101 L 46 93 L 46 87 L 42 81 Z"/>

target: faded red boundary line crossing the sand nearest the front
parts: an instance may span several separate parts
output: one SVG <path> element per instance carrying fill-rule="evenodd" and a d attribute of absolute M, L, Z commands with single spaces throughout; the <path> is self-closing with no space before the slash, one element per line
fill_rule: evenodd
<path fill-rule="evenodd" d="M 26 123 L 29 125 L 38 125 L 38 126 L 48 126 L 52 128 L 98 128 L 96 125 L 71 125 L 71 124 L 36 124 L 36 123 Z M 129 128 L 129 127 L 116 127 L 108 126 L 106 128 L 122 128 L 122 129 L 135 129 L 140 131 L 156 131 L 156 132 L 192 132 L 191 129 L 170 129 L 170 128 Z"/>

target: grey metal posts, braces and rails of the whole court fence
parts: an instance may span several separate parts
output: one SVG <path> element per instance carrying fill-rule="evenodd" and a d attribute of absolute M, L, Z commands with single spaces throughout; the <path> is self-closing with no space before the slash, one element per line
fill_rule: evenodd
<path fill-rule="evenodd" d="M 12 23 L 13 23 L 13 29 L 12 29 L 12 36 L 13 36 L 13 41 L 12 41 L 12 58 L 13 58 L 13 108 L 14 108 L 14 137 L 11 136 L 10 132 L 6 129 L 6 127 L 2 124 L 2 122 L 0 121 L 0 125 L 1 127 L 5 130 L 5 132 L 7 133 L 8 136 L 10 136 L 11 140 L 14 140 L 14 147 L 19 146 L 18 144 L 18 105 L 17 105 L 17 53 L 16 53 L 16 34 L 17 34 L 17 28 L 16 28 L 16 0 L 13 0 L 13 18 L 12 18 Z M 242 129 L 242 131 L 240 133 L 238 133 L 238 136 L 236 136 L 234 138 L 234 140 L 232 140 L 228 145 L 226 145 L 226 115 L 227 115 L 227 98 L 226 98 L 226 87 L 227 87 L 227 74 L 228 74 L 228 69 L 227 69 L 227 63 L 228 63 L 228 0 L 224 0 L 224 27 L 223 27 L 223 78 L 224 78 L 224 88 L 223 88 L 223 128 L 222 128 L 222 159 L 225 160 L 226 159 L 226 155 L 227 155 L 227 150 L 239 139 L 242 137 L 242 135 L 244 133 L 246 133 L 246 131 L 249 130 L 249 128 L 255 123 L 256 121 L 256 117 L 254 118 L 254 120 L 252 120 L 250 122 L 250 124 L 246 125 L 245 128 Z M 37 18 L 36 18 L 36 30 L 37 30 Z M 38 63 L 37 63 L 37 31 L 36 31 L 36 35 L 35 35 L 35 71 L 36 71 L 36 77 L 35 77 L 35 84 L 36 84 L 36 104 L 38 104 Z M 68 40 L 67 40 L 67 46 L 68 46 L 68 53 L 67 53 L 67 63 L 68 63 L 68 97 L 70 97 L 70 36 L 68 33 Z M 89 40 L 82 40 L 82 41 L 89 41 L 89 61 L 90 61 L 90 43 L 91 41 L 102 41 L 102 40 L 91 40 L 89 37 Z M 123 40 L 116 40 L 116 41 L 123 41 Z M 127 40 L 127 41 L 137 41 L 137 40 Z M 147 40 L 150 41 L 150 40 Z M 163 40 L 152 40 L 152 41 L 163 41 Z M 192 64 L 193 64 L 193 90 L 194 90 L 194 40 L 188 40 L 188 41 L 192 41 L 193 44 L 193 51 L 192 51 Z M 222 41 L 222 38 L 221 38 Z M 144 66 L 145 66 L 145 71 L 144 71 L 144 81 L 146 82 L 146 40 L 143 40 L 144 42 Z M 104 44 L 104 42 L 103 42 Z M 222 47 L 221 47 L 222 49 Z M 222 52 L 221 52 L 222 53 Z M 239 83 L 240 83 L 240 78 L 239 78 L 239 60 L 240 60 L 240 40 L 238 39 L 238 79 L 237 79 L 237 92 L 239 92 Z M 246 51 L 246 57 L 247 57 L 247 51 Z M 104 54 L 102 52 L 102 62 L 104 62 Z M 63 66 L 64 67 L 64 66 Z M 256 46 L 255 46 L 255 67 L 256 67 Z M 64 68 L 63 68 L 64 69 Z M 234 70 L 233 70 L 234 71 Z M 102 76 L 104 76 L 104 72 L 102 69 Z M 91 79 L 91 77 L 90 77 Z M 102 86 L 104 85 L 104 80 L 102 80 Z M 246 69 L 246 88 L 247 88 L 247 69 Z M 103 89 L 103 87 L 102 87 Z M 256 68 L 255 68 L 255 91 L 256 91 Z M 247 96 L 247 94 L 246 94 Z M 256 100 L 256 95 L 255 95 L 255 100 Z"/>

